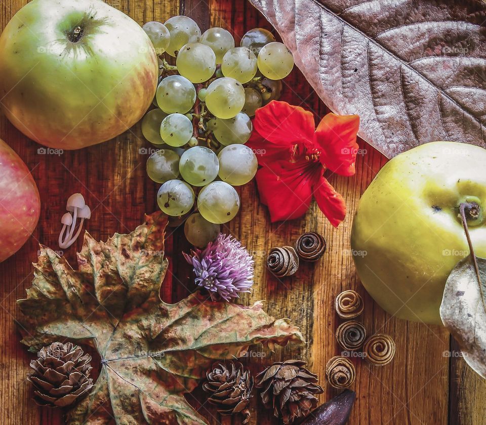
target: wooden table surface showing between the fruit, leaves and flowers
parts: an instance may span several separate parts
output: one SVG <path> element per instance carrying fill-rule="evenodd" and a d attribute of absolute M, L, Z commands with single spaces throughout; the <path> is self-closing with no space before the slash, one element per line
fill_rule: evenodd
<path fill-rule="evenodd" d="M 236 43 L 248 29 L 256 26 L 271 29 L 264 18 L 244 0 L 109 0 L 108 3 L 129 14 L 140 24 L 151 20 L 164 22 L 180 13 L 191 16 L 202 30 L 210 25 L 222 26 L 234 34 Z M 2 0 L 2 29 L 26 0 Z M 1 58 L 0 58 L 1 60 Z M 2 78 L 0 76 L 0 78 Z M 302 74 L 295 70 L 285 80 L 283 100 L 303 105 L 316 117 L 326 112 Z M 25 380 L 33 358 L 19 343 L 14 326 L 19 315 L 16 300 L 25 294 L 32 280 L 31 262 L 37 257 L 37 244 L 42 242 L 56 249 L 60 218 L 69 195 L 82 193 L 93 211 L 87 229 L 95 238 L 106 240 L 114 232 L 126 233 L 142 221 L 145 212 L 156 209 L 158 185 L 145 173 L 147 155 L 140 148 L 150 148 L 140 125 L 115 140 L 80 151 L 66 151 L 60 156 L 37 154 L 38 145 L 16 130 L 2 115 L 0 137 L 20 155 L 32 170 L 42 199 L 39 224 L 28 242 L 12 258 L 0 264 L 0 423 L 60 423 L 59 411 L 41 409 L 30 400 L 32 391 Z M 334 229 L 315 204 L 301 220 L 271 224 L 267 209 L 260 204 L 254 183 L 240 188 L 241 212 L 226 228 L 239 237 L 253 253 L 256 261 L 254 292 L 243 302 L 266 300 L 265 306 L 275 317 L 290 317 L 302 330 L 307 344 L 277 348 L 274 353 L 259 347 L 252 349 L 245 363 L 256 373 L 273 361 L 298 358 L 308 362 L 311 371 L 320 376 L 326 401 L 338 394 L 324 377 L 326 362 L 340 352 L 334 332 L 339 324 L 333 309 L 335 296 L 344 289 L 355 289 L 365 300 L 363 324 L 372 332 L 393 336 L 397 351 L 392 364 L 377 368 L 353 359 L 356 366 L 356 404 L 350 425 L 480 425 L 486 423 L 486 384 L 464 361 L 455 356 L 456 344 L 443 329 L 397 320 L 386 314 L 360 285 L 352 263 L 349 234 L 353 212 L 362 192 L 370 184 L 386 159 L 361 142 L 357 173 L 352 178 L 330 176 L 331 183 L 343 194 L 348 207 L 344 223 Z M 326 255 L 315 265 L 304 264 L 297 275 L 285 280 L 272 277 L 264 267 L 272 246 L 292 244 L 304 231 L 317 231 L 328 241 Z M 64 255 L 75 264 L 77 244 Z M 174 302 L 193 288 L 190 269 L 182 251 L 189 246 L 182 229 L 167 240 L 170 272 L 163 284 L 163 298 Z M 452 350 L 453 355 L 448 353 Z M 200 387 L 188 395 L 189 402 L 208 418 L 210 423 L 239 424 L 239 418 L 222 418 L 204 404 Z M 204 404 L 204 406 L 203 406 Z M 264 411 L 258 397 L 251 405 L 255 424 L 276 424 Z"/>

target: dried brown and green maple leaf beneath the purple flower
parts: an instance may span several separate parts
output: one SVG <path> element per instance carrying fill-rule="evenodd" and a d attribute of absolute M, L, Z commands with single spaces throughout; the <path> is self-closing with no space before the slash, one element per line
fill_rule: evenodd
<path fill-rule="evenodd" d="M 78 340 L 102 359 L 96 385 L 69 412 L 69 423 L 207 423 L 183 395 L 216 359 L 241 357 L 255 343 L 303 341 L 298 328 L 275 321 L 260 303 L 245 307 L 200 294 L 161 301 L 166 224 L 156 213 L 106 243 L 86 233 L 78 270 L 41 246 L 32 287 L 19 300 L 22 342 L 37 350 Z"/>

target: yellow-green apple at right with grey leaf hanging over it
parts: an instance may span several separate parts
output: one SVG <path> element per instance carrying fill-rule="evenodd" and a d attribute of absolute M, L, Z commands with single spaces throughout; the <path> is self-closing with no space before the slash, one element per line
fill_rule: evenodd
<path fill-rule="evenodd" d="M 352 255 L 362 284 L 390 314 L 441 324 L 446 279 L 469 254 L 463 202 L 481 209 L 468 224 L 475 254 L 486 257 L 486 150 L 451 141 L 396 156 L 363 193 Z"/>

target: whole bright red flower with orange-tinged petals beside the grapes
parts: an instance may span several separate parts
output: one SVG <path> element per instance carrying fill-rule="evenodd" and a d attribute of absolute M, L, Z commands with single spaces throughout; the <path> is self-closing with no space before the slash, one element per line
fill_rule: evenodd
<path fill-rule="evenodd" d="M 261 165 L 257 185 L 272 222 L 303 216 L 314 197 L 337 227 L 346 215 L 346 204 L 324 171 L 355 173 L 359 117 L 331 113 L 316 129 L 309 111 L 273 100 L 257 110 L 253 125 L 248 146 Z"/>

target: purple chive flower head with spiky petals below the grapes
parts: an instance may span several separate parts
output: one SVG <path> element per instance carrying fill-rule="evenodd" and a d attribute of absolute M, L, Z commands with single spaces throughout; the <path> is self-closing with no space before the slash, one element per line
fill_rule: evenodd
<path fill-rule="evenodd" d="M 213 301 L 217 295 L 230 301 L 238 298 L 240 292 L 250 292 L 255 262 L 241 247 L 241 242 L 232 236 L 220 233 L 204 251 L 192 251 L 192 257 L 183 254 L 194 267 L 196 285 L 207 289 Z"/>

